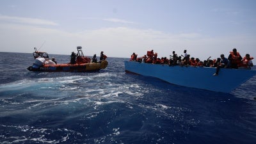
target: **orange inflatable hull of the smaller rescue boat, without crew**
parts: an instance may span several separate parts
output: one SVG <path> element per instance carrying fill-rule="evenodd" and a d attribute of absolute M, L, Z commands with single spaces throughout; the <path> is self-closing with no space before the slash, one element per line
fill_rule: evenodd
<path fill-rule="evenodd" d="M 106 67 L 108 67 L 108 61 L 101 61 L 100 63 L 44 65 L 42 67 L 32 65 L 28 67 L 28 70 L 39 72 L 93 72 Z"/>

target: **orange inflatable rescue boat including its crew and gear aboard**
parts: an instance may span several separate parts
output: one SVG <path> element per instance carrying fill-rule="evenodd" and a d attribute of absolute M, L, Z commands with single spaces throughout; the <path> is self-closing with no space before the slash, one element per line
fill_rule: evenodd
<path fill-rule="evenodd" d="M 106 60 L 107 56 L 102 52 L 102 60 L 93 61 L 84 56 L 82 47 L 77 47 L 77 54 L 72 52 L 70 63 L 61 63 L 57 64 L 54 61 L 49 59 L 47 52 L 37 51 L 33 52 L 35 62 L 33 65 L 29 66 L 27 69 L 29 71 L 38 71 L 38 72 L 92 72 L 97 71 L 103 68 L 108 67 L 108 61 Z"/>

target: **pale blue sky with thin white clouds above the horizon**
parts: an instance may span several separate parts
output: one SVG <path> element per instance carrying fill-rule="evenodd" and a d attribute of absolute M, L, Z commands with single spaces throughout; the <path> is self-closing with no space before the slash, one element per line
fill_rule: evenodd
<path fill-rule="evenodd" d="M 254 0 L 1 0 L 0 51 L 256 58 Z M 255 61 L 255 60 L 253 60 Z M 255 63 L 256 64 L 256 63 Z"/>

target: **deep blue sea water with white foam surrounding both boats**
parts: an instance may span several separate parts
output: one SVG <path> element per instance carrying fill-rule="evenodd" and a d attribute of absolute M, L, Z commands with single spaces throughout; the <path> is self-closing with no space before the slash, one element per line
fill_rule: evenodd
<path fill-rule="evenodd" d="M 0 143 L 255 143 L 255 76 L 217 93 L 125 74 L 125 60 L 30 72 L 32 54 L 0 52 Z"/>

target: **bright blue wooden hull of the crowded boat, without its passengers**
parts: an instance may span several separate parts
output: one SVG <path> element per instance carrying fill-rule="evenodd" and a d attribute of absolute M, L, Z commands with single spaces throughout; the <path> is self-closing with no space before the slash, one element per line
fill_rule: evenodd
<path fill-rule="evenodd" d="M 157 77 L 168 83 L 200 88 L 214 92 L 230 93 L 242 83 L 255 76 L 256 70 L 221 68 L 218 76 L 213 76 L 216 68 L 180 67 L 125 61 L 125 72 L 142 76 Z"/>

